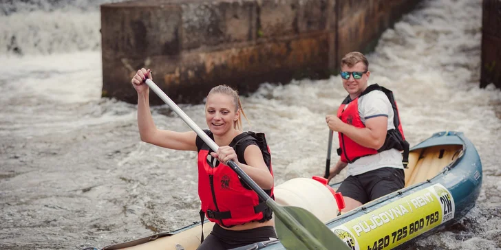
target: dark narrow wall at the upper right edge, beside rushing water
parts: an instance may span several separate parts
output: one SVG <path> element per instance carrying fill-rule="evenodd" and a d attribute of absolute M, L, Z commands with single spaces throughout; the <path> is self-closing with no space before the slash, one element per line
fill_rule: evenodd
<path fill-rule="evenodd" d="M 480 87 L 493 83 L 501 89 L 501 1 L 482 4 L 482 75 Z"/>

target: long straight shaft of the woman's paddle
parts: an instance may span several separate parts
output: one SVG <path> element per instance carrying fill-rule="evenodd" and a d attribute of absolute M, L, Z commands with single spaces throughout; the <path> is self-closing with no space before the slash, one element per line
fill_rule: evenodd
<path fill-rule="evenodd" d="M 171 98 L 169 98 L 169 96 L 167 96 L 155 84 L 155 82 L 150 79 L 147 79 L 145 82 L 146 84 L 148 84 L 150 89 L 153 90 L 153 92 L 155 92 L 158 97 L 160 97 L 160 99 L 162 99 L 167 105 L 169 105 L 169 107 L 175 113 L 177 113 L 182 118 L 182 120 L 186 122 L 186 124 L 188 124 L 188 126 L 190 126 L 190 128 L 193 129 L 193 131 L 195 131 L 195 133 L 197 133 L 197 135 L 202 138 L 202 140 L 204 140 L 204 142 L 209 145 L 209 147 L 214 152 L 217 152 L 217 148 L 219 148 L 219 146 L 217 146 L 217 144 L 215 144 L 215 142 L 206 133 L 204 133 L 204 131 L 197 124 L 195 124 L 195 122 L 193 122 L 193 120 L 191 120 L 191 118 L 186 115 L 186 113 L 184 113 L 184 111 L 182 111 L 182 109 L 180 109 L 179 106 L 176 105 L 171 100 Z M 230 160 L 226 162 L 226 165 L 233 169 L 233 171 L 235 171 L 238 176 L 242 178 L 242 180 L 244 180 L 244 182 L 257 193 L 259 198 L 262 198 L 262 200 L 266 201 L 266 205 L 268 205 L 268 207 L 270 207 L 273 212 L 275 212 L 275 216 L 277 216 L 277 218 L 284 222 L 284 225 L 286 225 L 286 227 L 288 227 L 290 231 L 292 231 L 298 238 L 300 238 L 302 242 L 309 243 L 308 245 L 306 245 L 308 249 L 326 249 L 326 247 L 323 247 L 319 240 L 317 240 L 315 236 L 312 236 L 312 234 L 310 234 L 308 230 L 306 230 L 294 217 L 292 217 L 292 215 L 290 215 L 284 209 L 284 207 L 281 207 L 275 201 L 273 201 L 273 199 L 270 198 L 270 196 L 268 196 L 268 194 L 266 194 L 266 192 L 264 192 L 264 190 L 260 188 L 259 185 L 257 185 L 255 181 L 251 179 L 251 177 L 248 176 L 248 174 L 246 174 L 246 172 L 239 168 L 237 163 Z M 325 225 L 322 226 L 325 227 Z"/>

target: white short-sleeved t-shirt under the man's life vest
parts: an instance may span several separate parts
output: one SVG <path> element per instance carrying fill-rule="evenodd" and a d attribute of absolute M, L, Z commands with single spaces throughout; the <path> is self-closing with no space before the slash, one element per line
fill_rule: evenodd
<path fill-rule="evenodd" d="M 387 130 L 395 128 L 393 124 L 394 113 L 392 104 L 383 91 L 370 91 L 362 95 L 358 99 L 358 104 L 359 115 L 363 124 L 370 118 L 385 116 L 388 117 Z M 385 167 L 403 169 L 402 153 L 392 148 L 379 152 L 376 155 L 361 157 L 354 161 L 354 163 L 348 163 L 348 176 L 363 174 Z"/>

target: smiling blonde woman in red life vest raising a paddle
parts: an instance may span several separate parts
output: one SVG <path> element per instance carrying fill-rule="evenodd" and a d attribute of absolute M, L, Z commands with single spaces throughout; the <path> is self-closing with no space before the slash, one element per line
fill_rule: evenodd
<path fill-rule="evenodd" d="M 193 132 L 174 132 L 156 128 L 149 110 L 151 71 L 140 69 L 131 82 L 138 92 L 138 127 L 142 141 L 175 150 L 198 151 L 198 195 L 201 213 L 215 223 L 211 234 L 198 250 L 232 249 L 277 238 L 272 211 L 224 162 L 233 160 L 268 195 L 273 197 L 273 171 L 270 152 L 262 133 L 242 133 L 245 116 L 237 91 L 220 85 L 209 92 L 204 132 L 219 146 L 209 146 Z M 203 216 L 203 215 L 202 215 Z M 203 218 L 203 217 L 202 217 Z"/>

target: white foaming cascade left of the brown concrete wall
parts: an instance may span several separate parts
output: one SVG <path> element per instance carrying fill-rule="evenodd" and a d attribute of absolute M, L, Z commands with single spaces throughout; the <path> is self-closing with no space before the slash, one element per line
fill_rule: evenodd
<path fill-rule="evenodd" d="M 0 5 L 0 54 L 100 49 L 102 3 L 125 0 L 15 0 Z"/>

